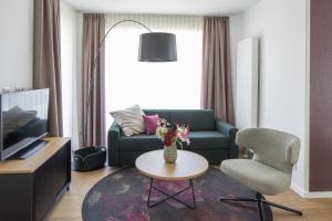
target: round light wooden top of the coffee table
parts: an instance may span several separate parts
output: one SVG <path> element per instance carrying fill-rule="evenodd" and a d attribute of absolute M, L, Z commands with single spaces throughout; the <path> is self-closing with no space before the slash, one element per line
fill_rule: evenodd
<path fill-rule="evenodd" d="M 144 175 L 162 180 L 186 180 L 199 177 L 208 170 L 208 161 L 200 155 L 177 150 L 175 164 L 164 160 L 164 150 L 154 150 L 136 159 L 136 168 Z"/>

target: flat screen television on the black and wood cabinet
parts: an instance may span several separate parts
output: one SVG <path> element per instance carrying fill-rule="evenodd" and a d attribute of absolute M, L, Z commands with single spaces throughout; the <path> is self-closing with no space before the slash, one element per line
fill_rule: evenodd
<path fill-rule="evenodd" d="M 0 94 L 0 160 L 48 135 L 49 90 Z"/>

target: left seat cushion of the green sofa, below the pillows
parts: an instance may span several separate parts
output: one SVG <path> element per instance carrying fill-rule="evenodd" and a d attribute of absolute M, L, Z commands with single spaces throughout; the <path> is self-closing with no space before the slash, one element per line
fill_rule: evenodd
<path fill-rule="evenodd" d="M 163 148 L 163 141 L 156 135 L 133 135 L 131 137 L 122 136 L 120 138 L 120 151 L 149 151 Z"/>

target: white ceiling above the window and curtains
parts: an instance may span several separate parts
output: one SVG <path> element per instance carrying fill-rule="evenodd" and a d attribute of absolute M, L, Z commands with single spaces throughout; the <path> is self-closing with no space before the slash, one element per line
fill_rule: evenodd
<path fill-rule="evenodd" d="M 261 0 L 63 0 L 75 10 L 102 13 L 227 15 Z"/>

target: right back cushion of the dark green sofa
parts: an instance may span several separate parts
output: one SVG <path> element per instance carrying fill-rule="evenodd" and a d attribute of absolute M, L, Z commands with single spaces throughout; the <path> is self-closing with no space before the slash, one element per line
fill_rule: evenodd
<path fill-rule="evenodd" d="M 215 130 L 215 115 L 210 109 L 174 109 L 170 122 L 188 125 L 190 131 Z"/>

